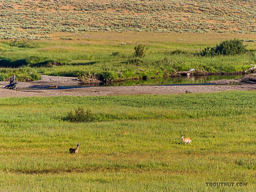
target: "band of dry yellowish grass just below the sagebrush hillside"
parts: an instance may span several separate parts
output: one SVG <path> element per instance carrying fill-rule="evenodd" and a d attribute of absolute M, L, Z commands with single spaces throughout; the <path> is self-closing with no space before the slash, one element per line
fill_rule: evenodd
<path fill-rule="evenodd" d="M 224 39 L 256 39 L 256 34 L 238 34 L 238 33 L 155 33 L 155 32 L 133 32 L 126 31 L 122 33 L 116 32 L 88 32 L 88 33 L 68 33 L 68 32 L 55 32 L 49 33 L 53 40 L 59 40 L 60 37 L 72 37 L 72 41 L 68 43 L 77 44 L 98 44 L 98 45 L 117 45 L 117 43 L 164 43 L 164 44 L 215 44 L 220 43 Z M 78 39 L 79 38 L 79 39 Z M 255 42 L 250 44 L 256 45 Z"/>

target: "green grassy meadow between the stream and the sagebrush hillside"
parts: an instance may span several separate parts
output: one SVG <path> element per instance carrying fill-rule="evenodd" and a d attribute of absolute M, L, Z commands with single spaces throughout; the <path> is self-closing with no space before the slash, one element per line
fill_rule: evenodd
<path fill-rule="evenodd" d="M 256 42 L 244 42 L 251 50 L 244 54 L 214 57 L 197 54 L 225 39 L 253 41 L 255 34 L 91 32 L 52 33 L 51 37 L 51 40 L 2 41 L 0 65 L 3 68 L 25 65 L 45 75 L 119 81 L 168 77 L 190 68 L 211 73 L 239 72 L 256 64 Z M 67 37 L 71 40 L 66 40 Z M 131 59 L 138 44 L 148 47 L 145 57 Z M 17 77 L 20 81 L 28 80 Z"/>

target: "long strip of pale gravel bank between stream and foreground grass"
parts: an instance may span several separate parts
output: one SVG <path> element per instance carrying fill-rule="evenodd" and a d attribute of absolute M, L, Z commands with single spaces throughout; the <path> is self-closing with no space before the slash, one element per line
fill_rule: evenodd
<path fill-rule="evenodd" d="M 29 96 L 88 96 L 88 95 L 136 95 L 136 94 L 175 94 L 203 93 L 231 90 L 256 90 L 254 85 L 179 85 L 179 86 L 124 86 L 124 87 L 88 87 L 55 90 L 13 91 L 0 88 L 0 97 Z"/>

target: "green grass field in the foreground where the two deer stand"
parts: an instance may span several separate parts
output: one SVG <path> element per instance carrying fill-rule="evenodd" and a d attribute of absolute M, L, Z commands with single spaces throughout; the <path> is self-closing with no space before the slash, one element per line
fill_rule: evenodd
<path fill-rule="evenodd" d="M 1 189 L 252 191 L 255 96 L 247 91 L 1 98 Z M 78 106 L 99 121 L 60 120 Z M 182 144 L 182 134 L 192 145 Z M 77 142 L 79 153 L 69 154 Z M 207 188 L 208 181 L 248 186 Z"/>

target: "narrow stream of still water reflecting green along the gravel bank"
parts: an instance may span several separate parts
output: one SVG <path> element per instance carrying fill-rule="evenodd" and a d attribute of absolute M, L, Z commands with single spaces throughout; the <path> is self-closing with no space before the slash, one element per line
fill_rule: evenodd
<path fill-rule="evenodd" d="M 169 77 L 169 78 L 155 78 L 147 80 L 126 80 L 121 82 L 114 82 L 111 84 L 66 84 L 57 85 L 57 89 L 70 89 L 70 88 L 84 88 L 84 87 L 100 87 L 100 86 L 139 86 L 139 85 L 204 85 L 208 81 L 215 81 L 220 79 L 236 79 L 243 77 L 243 74 L 238 75 L 204 75 L 204 76 L 182 76 L 182 77 Z M 23 89 L 47 89 L 49 85 L 34 85 L 29 88 Z"/>

